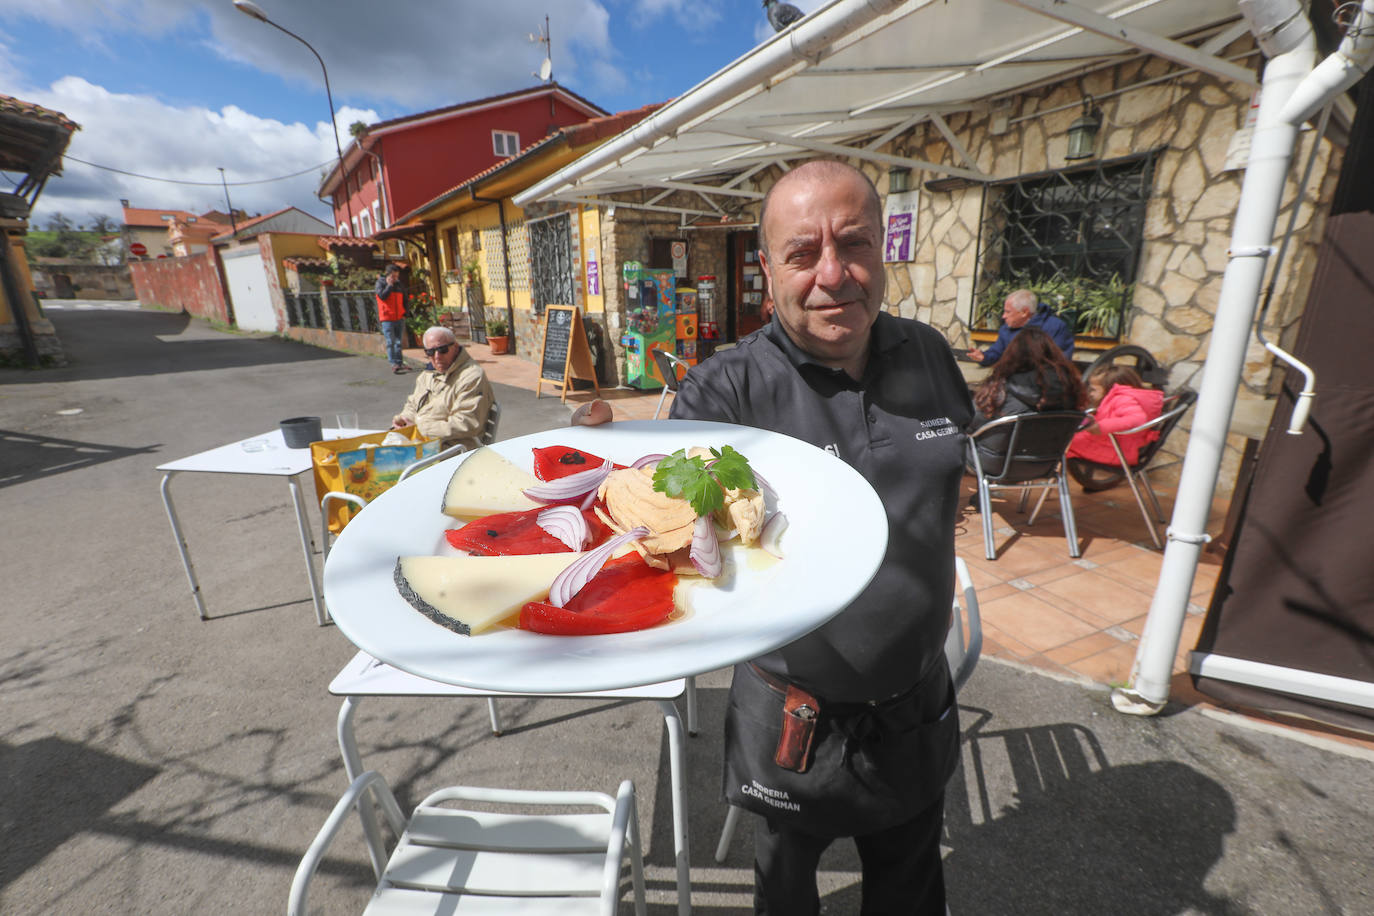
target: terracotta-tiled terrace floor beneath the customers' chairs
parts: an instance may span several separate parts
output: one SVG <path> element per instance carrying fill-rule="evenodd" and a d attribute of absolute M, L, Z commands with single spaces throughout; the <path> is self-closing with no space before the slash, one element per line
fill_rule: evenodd
<path fill-rule="evenodd" d="M 464 345 L 493 382 L 533 391 L 537 369 L 515 356 L 492 356 L 482 345 Z M 423 364 L 419 350 L 408 360 Z M 543 397 L 548 394 L 547 386 Z M 651 419 L 658 391 L 603 389 L 617 419 Z M 672 394 L 664 402 L 668 415 Z M 592 398 L 591 391 L 567 396 L 569 409 Z M 1058 497 L 1051 494 L 1035 525 L 1018 511 L 1018 497 L 993 499 L 993 534 L 998 559 L 984 556 L 982 519 L 967 505 L 977 492 L 965 477 L 965 508 L 960 511 L 955 549 L 965 558 L 982 611 L 984 655 L 1002 658 L 1059 676 L 1087 678 L 1103 685 L 1124 685 L 1131 673 L 1145 626 L 1162 552 L 1154 549 L 1131 490 L 1123 483 L 1101 493 L 1070 485 L 1081 556 L 1069 556 Z M 1157 485 L 1165 516 L 1173 508 L 1173 488 Z M 1035 504 L 1032 494 L 1030 505 Z M 1220 534 L 1227 500 L 1215 500 L 1206 530 Z M 1162 536 L 1162 526 L 1161 526 Z M 1189 652 L 1197 644 L 1202 614 L 1221 569 L 1221 553 L 1204 551 L 1193 585 L 1191 602 L 1173 662 L 1171 699 L 1184 705 L 1217 706 L 1193 689 L 1186 676 Z M 1259 718 L 1259 717 L 1257 717 Z M 1285 720 L 1286 726 L 1294 726 Z M 1297 726 L 1301 728 L 1301 726 Z M 1320 726 L 1303 729 L 1333 736 Z M 1347 743 L 1374 748 L 1374 742 L 1334 735 Z"/>

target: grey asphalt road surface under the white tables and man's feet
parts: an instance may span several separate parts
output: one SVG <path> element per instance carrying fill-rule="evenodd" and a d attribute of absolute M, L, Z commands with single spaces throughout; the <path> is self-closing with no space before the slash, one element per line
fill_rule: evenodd
<path fill-rule="evenodd" d="M 376 357 L 228 334 L 179 314 L 60 304 L 70 365 L 0 371 L 0 912 L 271 913 L 345 788 L 326 685 L 354 650 L 320 628 L 284 486 L 159 463 L 356 409 L 382 424 L 414 376 Z M 561 426 L 556 398 L 497 386 L 502 438 Z M 306 486 L 309 489 L 309 486 Z M 724 865 L 719 724 L 701 681 L 688 742 L 694 905 L 750 912 L 750 828 Z M 960 698 L 948 792 L 955 913 L 1374 913 L 1374 761 L 1237 720 L 1112 711 L 1103 689 L 984 662 Z M 371 699 L 357 733 L 403 805 L 441 784 L 640 792 L 650 912 L 672 905 L 666 740 L 651 703 Z M 345 831 L 312 909 L 370 891 Z M 827 913 L 859 912 L 853 847 L 823 861 Z M 627 908 L 628 912 L 628 908 Z"/>

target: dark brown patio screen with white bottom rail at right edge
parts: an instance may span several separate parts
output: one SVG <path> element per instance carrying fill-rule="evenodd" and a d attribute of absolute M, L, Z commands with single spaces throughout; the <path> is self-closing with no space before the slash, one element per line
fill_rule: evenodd
<path fill-rule="evenodd" d="M 1316 371 L 1311 423 L 1285 433 L 1301 387 L 1290 374 L 1197 648 L 1374 683 L 1374 213 L 1327 222 L 1294 352 Z M 1374 732 L 1371 709 L 1194 683 L 1221 700 Z"/>

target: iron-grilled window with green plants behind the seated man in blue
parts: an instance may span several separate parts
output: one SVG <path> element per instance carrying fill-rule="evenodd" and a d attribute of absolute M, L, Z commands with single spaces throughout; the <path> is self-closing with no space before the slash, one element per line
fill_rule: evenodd
<path fill-rule="evenodd" d="M 1151 152 L 989 185 L 970 327 L 996 328 L 1024 287 L 1077 334 L 1120 338 L 1153 177 Z"/>

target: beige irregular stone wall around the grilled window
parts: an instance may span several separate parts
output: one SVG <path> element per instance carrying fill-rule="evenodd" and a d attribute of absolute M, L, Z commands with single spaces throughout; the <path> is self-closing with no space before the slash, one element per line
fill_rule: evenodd
<path fill-rule="evenodd" d="M 1245 52 L 1253 52 L 1249 37 L 1239 38 L 1220 56 Z M 1246 62 L 1257 59 L 1257 54 L 1243 58 Z M 947 122 L 978 169 L 998 180 L 1081 168 L 1081 162 L 1068 162 L 1065 152 L 1069 125 L 1081 114 L 1085 95 L 1094 96 L 1103 117 L 1096 146 L 1099 159 L 1157 154 L 1140 261 L 1121 342 L 1143 346 L 1171 367 L 1169 389 L 1197 390 L 1245 176 L 1243 169 L 1226 168 L 1227 150 L 1237 129 L 1245 124 L 1250 91 L 1195 71 L 1171 77 L 1176 70 L 1160 58 L 1139 58 L 993 102 L 977 111 L 947 115 Z M 1301 201 L 1296 201 L 1301 166 L 1314 154 L 1314 146 L 1312 176 Z M 888 151 L 965 165 L 929 125 L 897 137 Z M 1270 339 L 1287 342 L 1296 335 L 1340 161 L 1340 150 L 1329 141 L 1318 141 L 1315 130 L 1301 133 L 1276 225 L 1276 235 L 1282 236 L 1296 202 L 1294 235 L 1275 277 L 1274 299 L 1264 320 Z M 886 170 L 871 165 L 861 168 L 885 192 Z M 976 261 L 982 196 L 980 185 L 922 190 L 916 258 L 911 264 L 888 265 L 889 310 L 930 323 L 960 347 L 969 346 L 969 323 L 978 294 Z M 1252 336 L 1238 398 L 1263 400 L 1274 390 L 1276 375 L 1282 371 L 1275 372 L 1272 358 Z M 1169 439 L 1168 452 L 1183 455 L 1191 420 L 1191 413 L 1183 419 Z M 1231 489 L 1242 449 L 1243 439 L 1230 435 L 1220 490 Z"/>

